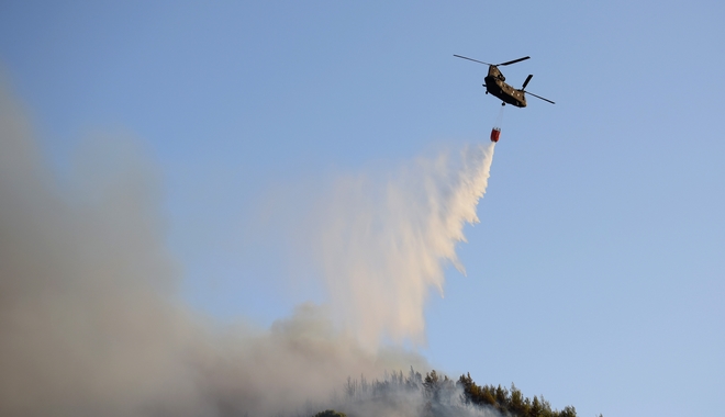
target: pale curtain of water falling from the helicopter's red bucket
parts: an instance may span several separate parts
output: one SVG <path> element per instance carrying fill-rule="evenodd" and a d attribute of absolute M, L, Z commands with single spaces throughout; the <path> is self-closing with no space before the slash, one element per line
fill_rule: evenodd
<path fill-rule="evenodd" d="M 465 224 L 478 222 L 494 144 L 444 153 L 397 177 L 337 181 L 322 205 L 320 251 L 336 317 L 373 349 L 381 338 L 424 341 L 431 289 L 443 295 L 444 268 L 458 262 Z"/>

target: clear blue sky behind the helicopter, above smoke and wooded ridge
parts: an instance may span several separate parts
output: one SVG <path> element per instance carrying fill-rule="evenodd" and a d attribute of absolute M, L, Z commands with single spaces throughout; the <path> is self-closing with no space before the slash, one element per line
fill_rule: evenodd
<path fill-rule="evenodd" d="M 506 106 L 467 277 L 432 293 L 422 353 L 582 416 L 718 415 L 724 19 L 718 1 L 3 1 L 0 69 L 59 178 L 89 132 L 136 137 L 185 298 L 267 326 L 325 295 L 289 283 L 274 224 L 292 221 L 257 222 L 265 204 L 488 140 L 487 68 L 453 54 L 528 55 L 507 81 L 534 74 L 556 105 Z"/>

